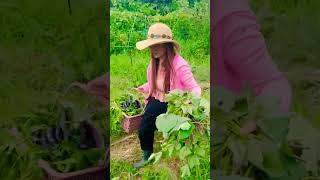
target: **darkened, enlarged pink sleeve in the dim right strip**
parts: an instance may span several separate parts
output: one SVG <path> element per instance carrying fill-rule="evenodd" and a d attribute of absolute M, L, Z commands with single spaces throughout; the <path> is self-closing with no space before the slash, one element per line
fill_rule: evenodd
<path fill-rule="evenodd" d="M 288 111 L 291 87 L 272 62 L 248 1 L 215 0 L 211 23 L 213 86 L 240 93 L 249 84 L 256 95 L 276 97 Z"/>

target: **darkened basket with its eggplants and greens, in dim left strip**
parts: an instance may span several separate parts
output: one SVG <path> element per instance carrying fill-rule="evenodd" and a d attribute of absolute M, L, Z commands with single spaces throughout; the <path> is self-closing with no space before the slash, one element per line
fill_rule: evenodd
<path fill-rule="evenodd" d="M 99 129 L 90 118 L 73 123 L 78 125 L 71 125 L 71 118 L 63 109 L 57 127 L 32 133 L 33 142 L 43 150 L 38 165 L 46 179 L 105 179 L 108 151 Z"/>

